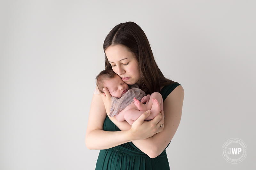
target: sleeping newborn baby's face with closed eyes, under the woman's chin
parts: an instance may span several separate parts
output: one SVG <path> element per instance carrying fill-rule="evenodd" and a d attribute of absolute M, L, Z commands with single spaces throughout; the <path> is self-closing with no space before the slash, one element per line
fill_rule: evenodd
<path fill-rule="evenodd" d="M 110 78 L 105 80 L 105 87 L 108 88 L 111 96 L 120 98 L 127 92 L 129 86 L 122 80 L 121 77 L 115 76 L 115 78 Z"/>

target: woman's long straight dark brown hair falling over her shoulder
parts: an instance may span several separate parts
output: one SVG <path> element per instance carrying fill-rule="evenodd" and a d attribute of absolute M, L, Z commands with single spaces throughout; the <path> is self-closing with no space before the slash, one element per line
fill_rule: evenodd
<path fill-rule="evenodd" d="M 134 22 L 125 22 L 115 26 L 107 35 L 103 48 L 114 45 L 123 45 L 134 54 L 139 63 L 140 88 L 147 94 L 159 92 L 163 85 L 176 83 L 165 78 L 158 68 L 153 52 L 144 31 Z M 111 64 L 105 53 L 105 69 L 111 69 Z"/>

